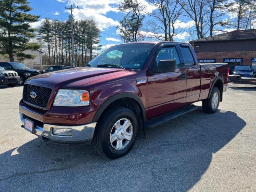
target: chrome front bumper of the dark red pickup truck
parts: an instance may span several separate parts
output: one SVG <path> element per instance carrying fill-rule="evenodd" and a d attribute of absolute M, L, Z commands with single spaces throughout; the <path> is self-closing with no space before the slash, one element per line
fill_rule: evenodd
<path fill-rule="evenodd" d="M 20 120 L 24 127 L 25 118 L 20 112 Z M 29 118 L 29 120 L 32 120 Z M 34 120 L 34 134 L 37 136 L 41 136 L 43 138 L 47 138 L 52 142 L 63 143 L 63 144 L 78 144 L 78 143 L 86 143 L 90 142 L 94 135 L 94 130 L 96 127 L 96 122 L 83 124 L 83 125 L 55 125 L 55 124 L 46 124 L 42 122 L 38 122 Z M 70 136 L 64 135 L 56 135 L 53 133 L 54 128 L 59 129 L 70 129 L 72 130 L 72 134 Z"/>

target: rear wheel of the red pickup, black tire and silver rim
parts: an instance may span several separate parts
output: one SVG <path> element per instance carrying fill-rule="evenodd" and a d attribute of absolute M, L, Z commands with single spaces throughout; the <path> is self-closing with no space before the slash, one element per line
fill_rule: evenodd
<path fill-rule="evenodd" d="M 203 111 L 206 113 L 215 113 L 220 104 L 220 90 L 217 87 L 212 89 L 210 98 L 202 100 Z"/>

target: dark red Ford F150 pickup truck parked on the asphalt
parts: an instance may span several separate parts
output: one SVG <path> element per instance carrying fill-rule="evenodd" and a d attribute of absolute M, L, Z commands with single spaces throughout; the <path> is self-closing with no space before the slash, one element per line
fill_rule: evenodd
<path fill-rule="evenodd" d="M 228 85 L 227 64 L 198 64 L 186 43 L 135 42 L 112 46 L 88 67 L 26 80 L 22 127 L 44 140 L 92 141 L 108 158 L 128 153 L 144 128 L 196 109 L 217 111 Z"/>

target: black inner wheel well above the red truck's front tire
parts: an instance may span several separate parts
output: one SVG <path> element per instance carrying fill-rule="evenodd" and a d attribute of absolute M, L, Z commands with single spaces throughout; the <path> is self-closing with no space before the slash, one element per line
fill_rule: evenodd
<path fill-rule="evenodd" d="M 138 118 L 138 122 L 140 126 L 138 131 L 138 136 L 145 138 L 144 117 L 143 117 L 143 112 L 140 104 L 133 98 L 120 98 L 112 102 L 105 110 L 113 106 L 125 107 L 130 109 L 132 112 L 134 112 L 134 114 Z"/>

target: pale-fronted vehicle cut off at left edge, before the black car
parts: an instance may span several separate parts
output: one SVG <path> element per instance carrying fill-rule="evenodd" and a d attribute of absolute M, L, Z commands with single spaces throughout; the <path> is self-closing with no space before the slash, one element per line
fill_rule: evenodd
<path fill-rule="evenodd" d="M 18 76 L 17 72 L 5 70 L 4 68 L 0 67 L 0 84 L 14 87 L 19 80 L 20 77 Z"/>

